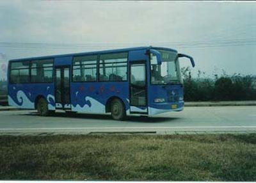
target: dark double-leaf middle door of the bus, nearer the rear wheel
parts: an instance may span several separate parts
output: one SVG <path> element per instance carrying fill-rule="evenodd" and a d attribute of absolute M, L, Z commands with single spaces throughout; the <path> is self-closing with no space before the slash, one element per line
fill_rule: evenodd
<path fill-rule="evenodd" d="M 71 109 L 70 104 L 70 67 L 55 67 L 56 109 Z"/>

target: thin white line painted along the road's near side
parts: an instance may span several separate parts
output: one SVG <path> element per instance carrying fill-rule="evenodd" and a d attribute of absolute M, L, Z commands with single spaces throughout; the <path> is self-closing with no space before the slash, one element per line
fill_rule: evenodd
<path fill-rule="evenodd" d="M 256 128 L 256 126 L 220 126 L 220 127 L 81 127 L 81 128 L 22 128 L 0 129 L 0 131 L 29 131 L 29 130 L 93 130 L 93 129 L 237 129 Z"/>

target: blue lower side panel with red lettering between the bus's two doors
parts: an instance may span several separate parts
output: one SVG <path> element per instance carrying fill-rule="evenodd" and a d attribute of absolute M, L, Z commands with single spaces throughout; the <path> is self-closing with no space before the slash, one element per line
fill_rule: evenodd
<path fill-rule="evenodd" d="M 127 82 L 73 82 L 71 84 L 72 111 L 105 113 L 106 104 L 111 97 L 124 102 L 129 109 Z"/>

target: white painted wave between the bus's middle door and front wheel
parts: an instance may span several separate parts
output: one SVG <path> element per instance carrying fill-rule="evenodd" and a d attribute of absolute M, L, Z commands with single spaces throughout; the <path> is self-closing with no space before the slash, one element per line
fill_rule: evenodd
<path fill-rule="evenodd" d="M 84 100 L 89 100 L 92 106 L 90 107 L 88 104 L 85 104 L 83 107 L 79 106 L 78 104 L 76 106 L 72 105 L 72 111 L 85 113 L 105 113 L 105 106 L 97 100 L 93 99 L 92 97 L 85 97 Z"/>

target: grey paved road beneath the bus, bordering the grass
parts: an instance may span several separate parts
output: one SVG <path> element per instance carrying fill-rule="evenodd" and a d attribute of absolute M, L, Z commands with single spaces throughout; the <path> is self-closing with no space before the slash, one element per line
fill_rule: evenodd
<path fill-rule="evenodd" d="M 152 118 L 130 116 L 115 121 L 110 115 L 41 117 L 35 111 L 0 111 L 1 134 L 86 134 L 101 132 L 148 132 L 152 134 L 256 132 L 256 106 L 186 107 L 182 112 Z"/>

